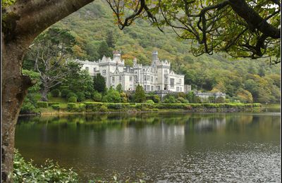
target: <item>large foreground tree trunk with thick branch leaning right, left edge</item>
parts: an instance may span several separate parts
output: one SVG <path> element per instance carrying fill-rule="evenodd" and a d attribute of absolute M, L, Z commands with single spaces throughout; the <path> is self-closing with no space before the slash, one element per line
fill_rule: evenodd
<path fill-rule="evenodd" d="M 27 88 L 33 83 L 22 75 L 23 56 L 33 39 L 50 25 L 93 0 L 17 0 L 2 9 L 1 29 L 1 179 L 13 182 L 15 128 Z"/>

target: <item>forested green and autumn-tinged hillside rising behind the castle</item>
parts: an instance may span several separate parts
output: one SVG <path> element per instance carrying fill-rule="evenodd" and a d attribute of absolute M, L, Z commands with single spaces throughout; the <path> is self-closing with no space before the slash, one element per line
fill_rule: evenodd
<path fill-rule="evenodd" d="M 281 98 L 280 63 L 268 65 L 262 60 L 219 54 L 194 57 L 189 53 L 189 42 L 177 39 L 169 28 L 163 33 L 146 20 L 137 20 L 119 30 L 104 1 L 94 1 L 54 27 L 71 30 L 77 39 L 74 58 L 97 61 L 118 49 L 128 65 L 134 57 L 139 63 L 149 64 L 152 51 L 157 50 L 159 58 L 171 61 L 176 72 L 185 74 L 185 84 L 192 84 L 192 89 L 226 92 L 241 101 L 252 97 L 255 102 L 277 103 Z"/>

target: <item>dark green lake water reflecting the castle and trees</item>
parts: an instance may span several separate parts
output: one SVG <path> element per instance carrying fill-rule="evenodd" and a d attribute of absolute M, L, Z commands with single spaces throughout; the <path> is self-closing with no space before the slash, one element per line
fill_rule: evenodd
<path fill-rule="evenodd" d="M 143 113 L 19 118 L 16 148 L 82 182 L 281 182 L 280 113 Z"/>

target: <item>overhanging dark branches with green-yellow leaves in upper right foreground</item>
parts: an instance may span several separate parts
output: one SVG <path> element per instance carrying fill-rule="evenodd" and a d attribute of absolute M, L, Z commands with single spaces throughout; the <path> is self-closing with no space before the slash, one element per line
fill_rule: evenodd
<path fill-rule="evenodd" d="M 106 1 L 120 29 L 137 17 L 149 19 L 160 30 L 168 25 L 180 39 L 191 41 L 195 56 L 224 51 L 234 57 L 268 56 L 271 63 L 280 63 L 280 1 Z M 124 7 L 135 11 L 128 15 Z"/>

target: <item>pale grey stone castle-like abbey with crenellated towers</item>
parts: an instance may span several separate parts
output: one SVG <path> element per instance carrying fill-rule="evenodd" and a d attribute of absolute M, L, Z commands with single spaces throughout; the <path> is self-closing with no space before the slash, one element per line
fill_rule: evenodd
<path fill-rule="evenodd" d="M 114 58 L 99 59 L 97 62 L 79 61 L 82 69 L 88 70 L 94 76 L 100 73 L 106 80 L 106 87 L 116 87 L 121 84 L 123 90 L 134 91 L 140 84 L 146 92 L 170 91 L 188 92 L 190 85 L 184 86 L 184 75 L 178 75 L 171 70 L 171 63 L 160 61 L 158 52 L 152 53 L 152 64 L 142 65 L 133 60 L 133 67 L 126 67 L 121 60 L 121 53 L 114 51 Z"/>

